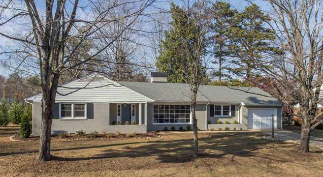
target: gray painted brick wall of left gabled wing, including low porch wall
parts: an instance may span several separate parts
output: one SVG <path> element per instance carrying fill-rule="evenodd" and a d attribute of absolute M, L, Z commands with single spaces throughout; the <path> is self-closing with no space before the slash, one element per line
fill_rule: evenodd
<path fill-rule="evenodd" d="M 146 126 L 142 125 L 123 125 L 123 126 L 110 126 L 109 116 L 114 111 L 109 111 L 109 103 L 94 103 L 94 119 L 87 120 L 59 120 L 53 119 L 52 134 L 59 134 L 60 132 L 75 133 L 78 130 L 84 130 L 86 133 L 91 131 L 103 131 L 107 133 L 146 133 Z M 33 134 L 40 135 L 41 126 L 41 103 L 34 103 L 33 110 Z"/>

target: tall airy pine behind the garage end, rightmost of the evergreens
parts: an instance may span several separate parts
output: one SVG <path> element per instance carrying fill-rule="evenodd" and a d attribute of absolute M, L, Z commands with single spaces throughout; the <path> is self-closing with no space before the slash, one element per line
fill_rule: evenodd
<path fill-rule="evenodd" d="M 272 46 L 276 36 L 273 30 L 266 27 L 269 21 L 270 17 L 259 6 L 251 4 L 236 15 L 235 24 L 231 27 L 232 49 L 237 58 L 233 61 L 235 66 L 232 71 L 247 80 L 252 79 L 254 61 L 279 52 L 278 48 Z"/>

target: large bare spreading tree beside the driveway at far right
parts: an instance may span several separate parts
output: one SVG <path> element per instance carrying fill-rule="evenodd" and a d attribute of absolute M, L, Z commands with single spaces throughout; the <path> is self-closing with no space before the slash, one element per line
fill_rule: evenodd
<path fill-rule="evenodd" d="M 319 125 L 322 113 L 317 113 L 322 85 L 321 1 L 268 0 L 273 9 L 270 25 L 276 31 L 280 56 L 254 60 L 257 74 L 271 80 L 272 94 L 285 104 L 299 104 L 297 116 L 302 124 L 300 152 L 309 152 L 311 130 Z M 252 80 L 249 80 L 252 81 Z M 257 80 L 252 81 L 259 85 Z"/>

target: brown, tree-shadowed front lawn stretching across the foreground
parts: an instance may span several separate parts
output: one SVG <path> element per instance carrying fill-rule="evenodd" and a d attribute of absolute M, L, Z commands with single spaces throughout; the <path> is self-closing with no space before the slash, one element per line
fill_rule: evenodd
<path fill-rule="evenodd" d="M 15 127 L 0 128 L 0 176 L 323 176 L 323 151 L 297 153 L 259 132 L 200 133 L 200 158 L 192 158 L 192 133 L 154 139 L 52 141 L 55 160 L 37 161 L 38 141 L 13 142 Z"/>

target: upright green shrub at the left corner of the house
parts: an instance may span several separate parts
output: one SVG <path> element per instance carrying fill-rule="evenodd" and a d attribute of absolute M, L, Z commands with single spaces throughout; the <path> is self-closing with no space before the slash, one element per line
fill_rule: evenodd
<path fill-rule="evenodd" d="M 30 133 L 31 133 L 30 121 L 32 119 L 32 116 L 33 115 L 31 111 L 29 111 L 29 107 L 26 106 L 20 122 L 20 136 L 22 138 L 28 138 L 30 136 Z"/>

